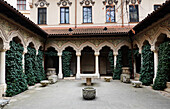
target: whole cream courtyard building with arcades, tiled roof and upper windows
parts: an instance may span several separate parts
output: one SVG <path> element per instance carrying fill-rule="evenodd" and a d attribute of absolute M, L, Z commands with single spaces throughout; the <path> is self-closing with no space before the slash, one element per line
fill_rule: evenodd
<path fill-rule="evenodd" d="M 165 0 L 123 1 L 29 0 L 30 19 L 34 23 L 5 1 L 0 1 L 0 95 L 7 87 L 5 54 L 12 40 L 24 48 L 24 69 L 24 54 L 31 46 L 36 53 L 40 49 L 44 51 L 45 70 L 56 68 L 60 79 L 65 75 L 65 51 L 72 55 L 69 76 L 78 79 L 80 74 L 96 74 L 98 77 L 112 75 L 112 70 L 119 64 L 119 51 L 122 50 L 122 67 L 133 64 L 131 77 L 134 77 L 143 64 L 143 46 L 149 44 L 154 57 L 154 81 L 159 64 L 158 47 L 170 39 L 170 1 L 154 12 L 154 8 Z M 147 16 L 148 13 L 151 14 Z M 138 58 L 129 58 L 129 52 L 133 50 L 138 50 Z M 114 58 L 113 66 L 108 60 L 109 56 Z M 167 82 L 170 76 L 168 78 Z"/>

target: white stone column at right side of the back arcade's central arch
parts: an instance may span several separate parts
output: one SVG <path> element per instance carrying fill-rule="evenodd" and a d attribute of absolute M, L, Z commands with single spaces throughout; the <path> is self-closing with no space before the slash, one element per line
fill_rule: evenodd
<path fill-rule="evenodd" d="M 98 76 L 98 78 L 100 77 L 99 74 L 99 52 L 95 52 L 95 74 Z"/>

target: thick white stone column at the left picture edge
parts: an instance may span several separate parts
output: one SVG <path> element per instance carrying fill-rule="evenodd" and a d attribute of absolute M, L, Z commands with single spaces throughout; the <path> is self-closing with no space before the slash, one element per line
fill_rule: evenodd
<path fill-rule="evenodd" d="M 6 52 L 5 50 L 0 51 L 0 94 L 3 94 L 7 88 L 5 82 L 5 61 L 6 61 L 5 52 Z"/>

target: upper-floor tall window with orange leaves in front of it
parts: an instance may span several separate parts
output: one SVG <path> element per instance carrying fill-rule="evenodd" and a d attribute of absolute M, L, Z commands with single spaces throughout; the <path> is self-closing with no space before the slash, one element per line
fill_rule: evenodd
<path fill-rule="evenodd" d="M 115 22 L 115 6 L 106 6 L 106 22 Z"/>

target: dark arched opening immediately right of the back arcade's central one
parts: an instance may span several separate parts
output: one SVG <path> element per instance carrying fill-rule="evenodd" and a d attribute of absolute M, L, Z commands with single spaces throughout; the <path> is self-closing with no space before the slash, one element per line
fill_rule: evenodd
<path fill-rule="evenodd" d="M 100 70 L 100 75 L 104 76 L 113 76 L 112 74 L 112 69 L 111 69 L 111 63 L 109 62 L 109 53 L 113 56 L 113 50 L 110 49 L 108 46 L 104 46 L 100 50 L 100 55 L 99 55 L 99 70 Z M 112 58 L 114 59 L 114 57 Z M 112 60 L 114 62 L 114 60 Z"/>

